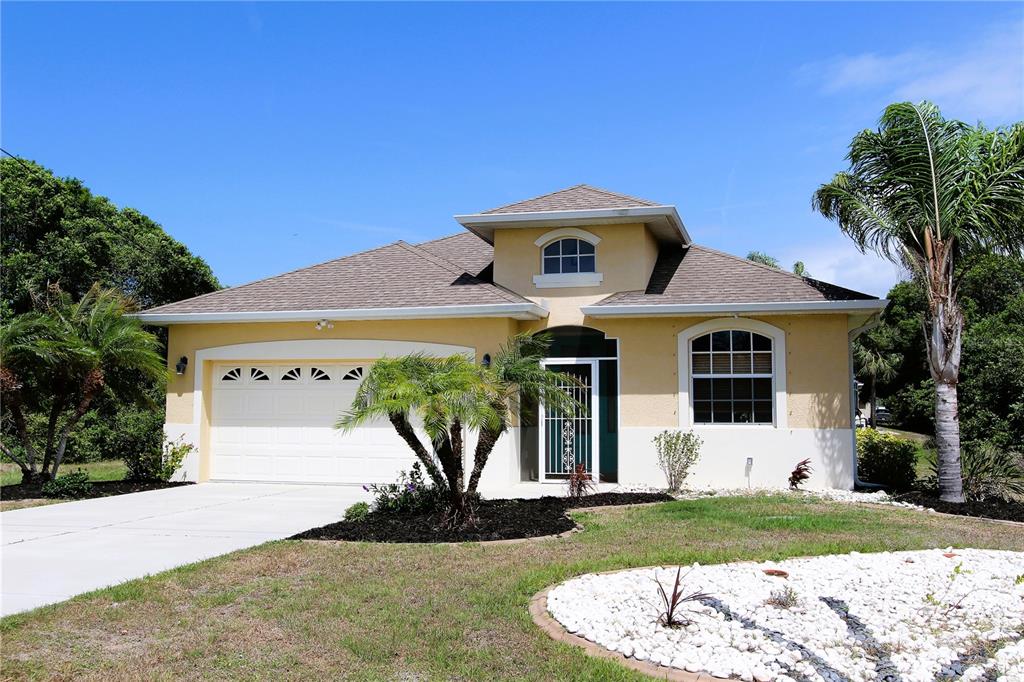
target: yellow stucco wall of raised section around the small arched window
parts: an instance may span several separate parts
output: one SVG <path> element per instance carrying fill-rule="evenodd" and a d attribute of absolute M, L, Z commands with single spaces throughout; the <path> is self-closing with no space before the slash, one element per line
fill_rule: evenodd
<path fill-rule="evenodd" d="M 597 287 L 538 289 L 534 275 L 541 274 L 541 250 L 538 239 L 551 227 L 525 227 L 495 230 L 495 282 L 534 300 L 561 297 L 607 296 L 618 291 L 638 291 L 657 260 L 657 243 L 643 224 L 584 225 L 578 229 L 591 232 L 601 242 L 595 248 L 597 271 L 604 275 Z"/>

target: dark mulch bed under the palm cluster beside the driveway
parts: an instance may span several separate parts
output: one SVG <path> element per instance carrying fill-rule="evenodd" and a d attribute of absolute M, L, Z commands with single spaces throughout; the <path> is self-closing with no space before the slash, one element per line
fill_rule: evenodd
<path fill-rule="evenodd" d="M 546 497 L 536 500 L 481 500 L 475 518 L 461 527 L 440 528 L 439 515 L 376 514 L 358 521 L 338 521 L 311 528 L 292 540 L 352 540 L 372 543 L 464 543 L 554 536 L 575 523 L 566 510 L 650 502 L 671 502 L 664 493 L 598 493 L 579 500 Z"/>

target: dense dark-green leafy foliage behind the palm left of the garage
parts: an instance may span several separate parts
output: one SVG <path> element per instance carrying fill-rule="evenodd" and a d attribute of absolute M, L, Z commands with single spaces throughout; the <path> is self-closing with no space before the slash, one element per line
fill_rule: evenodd
<path fill-rule="evenodd" d="M 34 162 L 0 161 L 0 213 L 2 326 L 32 311 L 33 294 L 46 291 L 50 284 L 59 284 L 78 300 L 98 283 L 120 291 L 140 307 L 219 288 L 209 266 L 159 224 L 134 209 L 119 209 L 79 180 L 58 178 Z M 166 338 L 162 329 L 155 333 Z M 144 409 L 118 400 L 110 391 L 97 395 L 72 431 L 65 461 L 95 459 L 99 454 L 134 457 L 140 454 L 139 447 L 159 450 L 163 418 L 160 408 L 153 406 L 159 406 L 161 388 L 155 382 L 144 386 L 153 397 Z M 41 399 L 26 410 L 31 437 L 45 440 L 49 400 Z M 6 410 L 2 433 L 9 440 L 19 439 Z"/>

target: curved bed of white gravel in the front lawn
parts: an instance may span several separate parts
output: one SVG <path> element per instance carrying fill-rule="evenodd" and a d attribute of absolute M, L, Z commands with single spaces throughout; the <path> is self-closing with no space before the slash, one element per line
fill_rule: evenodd
<path fill-rule="evenodd" d="M 654 581 L 671 593 L 675 566 L 572 579 L 550 591 L 548 610 L 607 649 L 718 677 L 1024 680 L 1022 552 L 852 552 L 683 573 L 685 594 L 711 595 L 681 606 L 683 627 L 658 623 Z M 766 603 L 785 588 L 794 605 Z"/>

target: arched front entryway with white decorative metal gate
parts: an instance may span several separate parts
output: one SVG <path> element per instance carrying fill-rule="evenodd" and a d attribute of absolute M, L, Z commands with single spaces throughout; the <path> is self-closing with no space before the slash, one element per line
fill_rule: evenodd
<path fill-rule="evenodd" d="M 559 415 L 544 406 L 525 410 L 520 466 L 524 479 L 548 482 L 568 477 L 566 451 L 601 481 L 618 480 L 618 341 L 587 327 L 555 327 L 546 367 L 570 374 L 568 385 L 588 406 L 587 415 Z"/>

